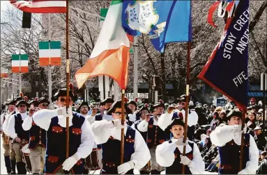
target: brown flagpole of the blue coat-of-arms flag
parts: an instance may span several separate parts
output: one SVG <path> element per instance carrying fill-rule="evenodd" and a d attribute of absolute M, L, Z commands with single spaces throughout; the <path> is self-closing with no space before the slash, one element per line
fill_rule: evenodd
<path fill-rule="evenodd" d="M 186 91 L 185 91 L 185 127 L 183 133 L 183 142 L 188 138 L 188 104 L 189 104 L 189 78 L 190 78 L 190 50 L 191 42 L 188 42 L 188 58 L 186 61 Z M 185 156 L 186 145 L 183 146 L 183 156 Z M 182 174 L 185 174 L 185 165 L 182 166 Z"/>

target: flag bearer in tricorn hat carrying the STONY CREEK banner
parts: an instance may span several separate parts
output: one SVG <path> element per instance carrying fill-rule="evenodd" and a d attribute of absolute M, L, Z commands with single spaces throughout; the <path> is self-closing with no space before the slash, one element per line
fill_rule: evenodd
<path fill-rule="evenodd" d="M 231 110 L 227 115 L 228 125 L 220 125 L 211 133 L 211 142 L 219 147 L 219 174 L 253 174 L 257 171 L 259 151 L 252 135 L 244 134 L 243 169 L 239 172 L 242 113 Z M 246 131 L 244 127 L 244 131 Z"/>

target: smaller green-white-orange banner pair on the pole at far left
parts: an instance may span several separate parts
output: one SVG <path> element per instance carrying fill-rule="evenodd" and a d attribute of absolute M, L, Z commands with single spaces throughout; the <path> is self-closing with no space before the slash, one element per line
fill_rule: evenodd
<path fill-rule="evenodd" d="M 28 55 L 12 55 L 12 72 L 28 72 Z"/>

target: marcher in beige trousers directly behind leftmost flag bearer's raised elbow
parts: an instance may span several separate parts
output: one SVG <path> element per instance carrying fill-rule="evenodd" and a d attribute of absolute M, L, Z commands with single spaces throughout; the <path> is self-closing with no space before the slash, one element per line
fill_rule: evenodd
<path fill-rule="evenodd" d="M 22 124 L 24 131 L 29 131 L 30 160 L 33 174 L 43 173 L 45 165 L 46 131 L 33 122 L 32 116 L 41 108 L 47 108 L 48 103 L 49 101 L 44 97 L 39 100 L 37 100 L 36 97 L 29 101 L 29 116 L 24 119 Z M 47 104 L 47 106 L 41 104 Z M 40 108 L 38 106 L 40 106 Z"/>

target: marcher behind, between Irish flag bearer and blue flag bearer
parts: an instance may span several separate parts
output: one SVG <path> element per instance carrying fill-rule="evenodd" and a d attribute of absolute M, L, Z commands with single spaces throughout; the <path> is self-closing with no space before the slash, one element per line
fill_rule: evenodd
<path fill-rule="evenodd" d="M 153 117 L 149 119 L 147 122 L 144 119 L 137 126 L 138 131 L 147 132 L 147 140 L 146 144 L 148 145 L 150 154 L 151 154 L 151 174 L 160 174 L 162 171 L 162 167 L 158 165 L 155 160 L 155 149 L 158 144 L 162 144 L 167 140 L 166 133 L 158 126 L 158 119 L 160 115 L 164 113 L 165 105 L 162 101 L 154 105 L 155 113 L 153 113 Z"/>

